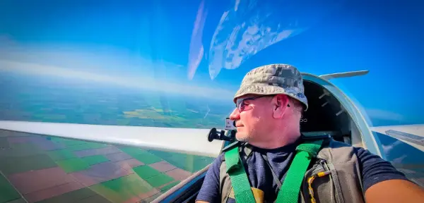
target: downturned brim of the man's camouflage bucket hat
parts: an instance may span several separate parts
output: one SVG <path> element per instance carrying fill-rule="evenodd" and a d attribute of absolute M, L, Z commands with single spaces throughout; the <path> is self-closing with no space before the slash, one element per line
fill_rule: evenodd
<path fill-rule="evenodd" d="M 295 94 L 295 92 L 298 92 L 298 90 L 295 90 L 296 87 L 288 87 L 283 88 L 279 86 L 274 85 L 262 85 L 262 84 L 256 84 L 256 85 L 245 85 L 240 87 L 240 89 L 235 93 L 235 96 L 233 98 L 233 101 L 235 103 L 236 99 L 238 97 L 242 97 L 246 94 L 259 94 L 259 95 L 272 95 L 272 94 L 285 94 L 288 97 L 292 97 L 293 99 L 296 99 L 300 101 L 303 105 L 305 105 L 305 111 L 308 108 L 307 105 L 307 98 L 305 97 L 305 94 Z"/>

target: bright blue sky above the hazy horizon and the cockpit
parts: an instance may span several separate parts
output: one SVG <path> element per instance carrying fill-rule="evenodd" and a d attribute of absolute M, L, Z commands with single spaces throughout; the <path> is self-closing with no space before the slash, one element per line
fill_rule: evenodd
<path fill-rule="evenodd" d="M 248 70 L 268 63 L 317 75 L 367 69 L 368 75 L 331 82 L 370 116 L 424 123 L 423 3 L 260 1 L 249 10 L 244 2 L 204 1 L 199 12 L 201 1 L 23 2 L 0 3 L 0 59 L 64 68 L 59 75 L 102 75 L 99 81 L 114 80 L 105 75 L 166 80 L 228 99 Z M 196 26 L 203 29 L 194 35 Z M 267 28 L 268 34 L 247 35 Z M 199 60 L 191 80 L 189 58 Z"/>

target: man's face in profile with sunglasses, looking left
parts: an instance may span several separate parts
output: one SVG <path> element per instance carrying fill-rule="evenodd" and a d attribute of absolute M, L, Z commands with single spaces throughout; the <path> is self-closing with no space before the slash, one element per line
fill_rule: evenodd
<path fill-rule="evenodd" d="M 252 142 L 266 138 L 272 128 L 273 107 L 272 96 L 249 94 L 237 98 L 236 108 L 230 114 L 237 127 L 237 140 Z"/>

